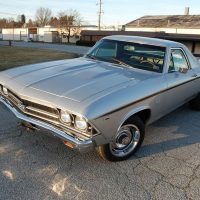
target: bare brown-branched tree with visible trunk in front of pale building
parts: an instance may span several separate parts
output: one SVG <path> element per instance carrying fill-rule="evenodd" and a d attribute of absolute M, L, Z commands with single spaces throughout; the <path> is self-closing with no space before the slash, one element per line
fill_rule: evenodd
<path fill-rule="evenodd" d="M 67 10 L 58 14 L 59 27 L 62 36 L 66 36 L 67 42 L 70 37 L 76 36 L 80 32 L 81 18 L 77 10 Z"/>

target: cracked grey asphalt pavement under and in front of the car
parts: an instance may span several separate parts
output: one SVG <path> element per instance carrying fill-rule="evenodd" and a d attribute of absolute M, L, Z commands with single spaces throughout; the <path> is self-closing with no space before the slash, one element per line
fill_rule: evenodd
<path fill-rule="evenodd" d="M 0 199 L 200 199 L 200 113 L 183 106 L 146 130 L 143 147 L 111 163 L 27 132 L 0 105 Z"/>

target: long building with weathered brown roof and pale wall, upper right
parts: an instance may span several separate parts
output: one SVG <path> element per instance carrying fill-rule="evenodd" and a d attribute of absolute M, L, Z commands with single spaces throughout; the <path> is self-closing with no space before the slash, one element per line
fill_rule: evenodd
<path fill-rule="evenodd" d="M 126 31 L 200 34 L 200 15 L 144 16 L 124 25 Z"/>

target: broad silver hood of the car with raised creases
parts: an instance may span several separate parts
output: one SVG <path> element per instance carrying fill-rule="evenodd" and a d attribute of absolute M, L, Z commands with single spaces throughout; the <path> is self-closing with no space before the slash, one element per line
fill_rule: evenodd
<path fill-rule="evenodd" d="M 149 76 L 86 58 L 29 65 L 8 70 L 4 75 L 17 91 L 37 90 L 77 102 Z"/>

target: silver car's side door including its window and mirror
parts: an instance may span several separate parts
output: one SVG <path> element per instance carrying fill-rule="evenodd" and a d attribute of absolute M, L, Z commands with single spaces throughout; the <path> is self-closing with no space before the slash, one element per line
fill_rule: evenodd
<path fill-rule="evenodd" d="M 166 74 L 168 89 L 165 93 L 165 109 L 171 111 L 196 95 L 196 74 L 181 48 L 171 49 L 171 62 Z"/>

